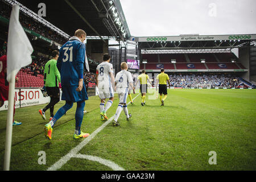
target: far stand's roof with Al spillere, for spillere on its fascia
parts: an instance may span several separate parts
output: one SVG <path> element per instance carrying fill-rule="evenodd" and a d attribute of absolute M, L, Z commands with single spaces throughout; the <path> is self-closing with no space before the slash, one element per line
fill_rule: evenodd
<path fill-rule="evenodd" d="M 256 34 L 136 37 L 140 49 L 220 49 L 250 46 Z"/>

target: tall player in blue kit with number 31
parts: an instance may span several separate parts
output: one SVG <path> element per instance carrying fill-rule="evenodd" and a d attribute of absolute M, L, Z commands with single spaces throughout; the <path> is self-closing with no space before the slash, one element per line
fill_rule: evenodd
<path fill-rule="evenodd" d="M 60 48 L 57 68 L 59 69 L 61 78 L 61 100 L 65 100 L 66 103 L 57 111 L 52 120 L 44 126 L 47 139 L 52 138 L 53 125 L 67 110 L 72 108 L 73 102 L 77 103 L 75 114 L 76 127 L 73 139 L 85 138 L 90 135 L 88 133 L 82 133 L 81 131 L 85 100 L 88 100 L 83 81 L 85 61 L 85 45 L 83 42 L 85 38 L 86 33 L 84 30 L 76 30 L 75 36 L 72 36 L 72 38 Z"/>

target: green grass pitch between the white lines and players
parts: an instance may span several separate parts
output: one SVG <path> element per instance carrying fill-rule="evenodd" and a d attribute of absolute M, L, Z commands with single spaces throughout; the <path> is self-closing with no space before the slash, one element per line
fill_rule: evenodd
<path fill-rule="evenodd" d="M 256 90 L 171 89 L 164 106 L 147 94 L 129 105 L 130 121 L 123 111 L 119 127 L 109 123 L 80 151 L 80 154 L 110 160 L 125 170 L 255 170 L 256 169 Z M 132 94 L 133 98 L 138 95 Z M 129 98 L 127 98 L 129 101 Z M 64 102 L 55 106 L 55 112 Z M 81 129 L 92 134 L 100 121 L 100 99 L 90 97 L 85 104 Z M 44 121 L 39 109 L 45 105 L 16 109 L 11 148 L 11 170 L 46 170 L 68 154 L 82 140 L 72 138 L 76 104 L 53 127 L 52 140 L 44 137 Z M 117 94 L 107 112 L 115 114 Z M 7 111 L 0 112 L 0 168 L 3 169 Z M 47 110 L 49 118 L 49 110 Z M 39 151 L 46 152 L 46 164 L 38 164 Z M 210 165 L 210 151 L 217 164 Z M 87 159 L 71 158 L 60 170 L 112 170 Z"/>

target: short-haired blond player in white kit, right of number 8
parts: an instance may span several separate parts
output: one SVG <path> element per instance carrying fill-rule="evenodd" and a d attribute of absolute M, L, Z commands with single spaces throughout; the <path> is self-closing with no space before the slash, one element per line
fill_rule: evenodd
<path fill-rule="evenodd" d="M 127 71 L 127 63 L 121 63 L 122 71 L 118 72 L 115 76 L 115 91 L 118 93 L 119 104 L 117 107 L 117 111 L 115 112 L 115 117 L 113 121 L 114 126 L 119 126 L 118 118 L 123 109 L 126 115 L 127 121 L 131 117 L 131 114 L 128 113 L 126 99 L 128 95 L 129 88 L 133 88 L 133 93 L 135 94 L 135 89 L 133 87 L 133 77 L 131 77 L 131 73 Z"/>

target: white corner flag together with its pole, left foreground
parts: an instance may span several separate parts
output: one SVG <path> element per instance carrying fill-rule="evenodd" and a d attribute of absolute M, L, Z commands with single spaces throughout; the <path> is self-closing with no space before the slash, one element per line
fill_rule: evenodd
<path fill-rule="evenodd" d="M 19 69 L 32 63 L 33 48 L 19 23 L 19 5 L 13 5 L 9 22 L 7 42 L 7 81 L 9 82 L 9 108 L 6 122 L 5 162 L 3 169 L 9 171 L 11 158 L 11 137 L 13 133 L 15 75 Z"/>

